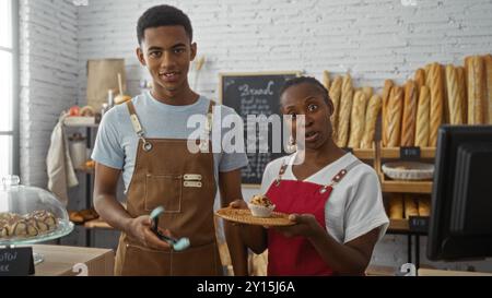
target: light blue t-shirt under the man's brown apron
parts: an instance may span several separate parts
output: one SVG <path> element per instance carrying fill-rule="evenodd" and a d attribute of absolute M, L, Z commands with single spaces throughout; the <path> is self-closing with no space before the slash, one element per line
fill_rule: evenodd
<path fill-rule="evenodd" d="M 188 140 L 188 136 L 197 131 L 197 127 L 187 128 L 188 119 L 195 115 L 207 115 L 210 106 L 210 100 L 203 96 L 189 106 L 171 106 L 153 98 L 150 92 L 134 97 L 132 103 L 147 139 Z M 214 128 L 222 128 L 221 120 L 224 117 L 237 116 L 232 108 L 225 106 L 219 106 L 214 110 L 220 110 L 221 116 L 216 117 L 216 112 L 214 112 Z M 221 129 L 222 139 L 229 130 Z M 139 138 L 131 124 L 127 105 L 115 106 L 104 115 L 92 159 L 104 166 L 122 170 L 126 191 L 128 191 L 133 176 L 138 144 Z M 227 172 L 247 166 L 246 154 L 237 151 L 227 153 L 232 151 L 234 150 L 224 148 L 220 150 L 220 153 L 213 154 L 215 182 L 219 181 L 219 172 Z"/>

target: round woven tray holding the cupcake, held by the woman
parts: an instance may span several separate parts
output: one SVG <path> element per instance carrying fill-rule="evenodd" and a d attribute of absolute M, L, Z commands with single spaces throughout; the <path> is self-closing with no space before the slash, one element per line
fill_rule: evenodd
<path fill-rule="evenodd" d="M 295 225 L 294 222 L 289 220 L 289 214 L 279 212 L 272 212 L 271 217 L 268 218 L 255 217 L 249 210 L 231 207 L 221 208 L 215 214 L 229 222 L 254 226 L 286 227 Z"/>

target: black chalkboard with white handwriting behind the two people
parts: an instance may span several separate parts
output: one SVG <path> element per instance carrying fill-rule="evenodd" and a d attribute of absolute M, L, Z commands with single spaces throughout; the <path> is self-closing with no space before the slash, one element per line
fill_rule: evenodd
<path fill-rule="evenodd" d="M 233 108 L 245 123 L 245 141 L 247 140 L 247 116 L 271 115 L 282 116 L 280 112 L 280 90 L 286 81 L 300 75 L 300 72 L 283 73 L 222 73 L 220 74 L 220 99 L 224 106 Z M 257 142 L 259 143 L 259 129 Z M 243 169 L 244 184 L 261 184 L 261 178 L 268 163 L 286 155 L 272 152 L 271 127 L 269 130 L 268 153 L 259 153 L 257 143 L 256 153 L 247 153 L 249 165 Z"/>

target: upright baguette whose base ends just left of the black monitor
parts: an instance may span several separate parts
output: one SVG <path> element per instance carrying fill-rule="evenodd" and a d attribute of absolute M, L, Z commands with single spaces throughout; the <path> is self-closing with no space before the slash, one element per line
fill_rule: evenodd
<path fill-rule="evenodd" d="M 429 132 L 431 119 L 431 93 L 427 86 L 420 90 L 419 105 L 417 108 L 415 146 L 429 146 Z"/>

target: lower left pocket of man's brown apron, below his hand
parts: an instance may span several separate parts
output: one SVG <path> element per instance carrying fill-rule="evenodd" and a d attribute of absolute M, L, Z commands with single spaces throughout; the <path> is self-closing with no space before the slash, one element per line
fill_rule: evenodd
<path fill-rule="evenodd" d="M 122 276 L 169 276 L 171 252 L 126 245 L 122 253 Z"/>

